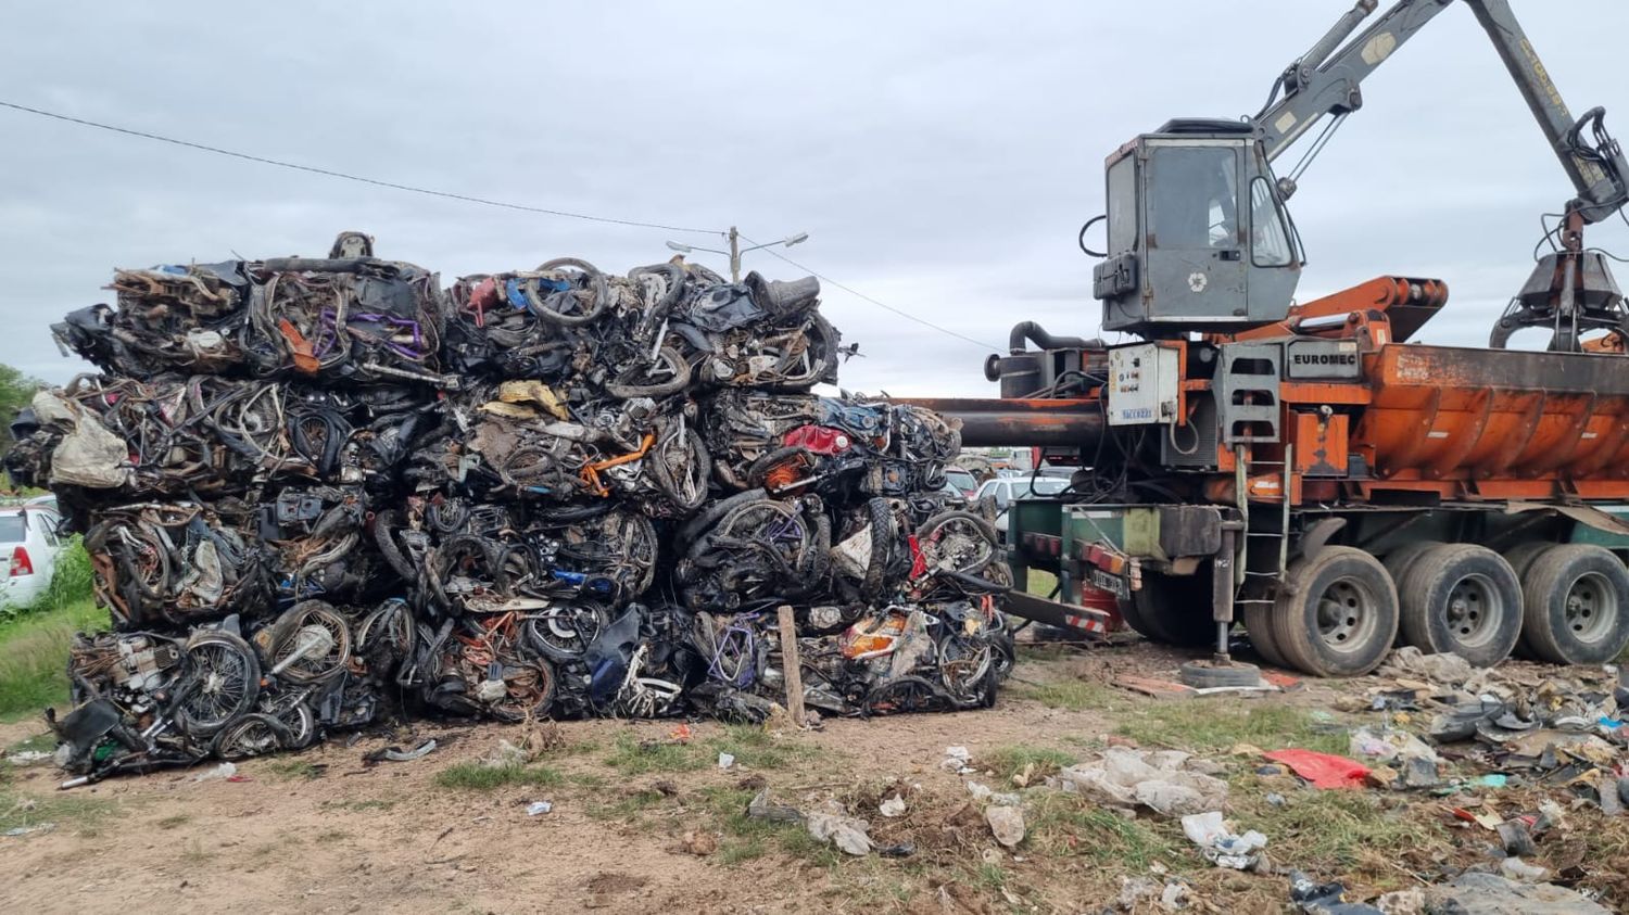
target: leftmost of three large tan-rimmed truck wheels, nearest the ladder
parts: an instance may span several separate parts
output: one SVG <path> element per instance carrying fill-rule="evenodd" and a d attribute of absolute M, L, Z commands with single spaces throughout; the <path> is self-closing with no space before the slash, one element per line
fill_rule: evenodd
<path fill-rule="evenodd" d="M 1398 635 L 1398 589 L 1378 558 L 1324 547 L 1285 571 L 1272 635 L 1284 659 L 1303 672 L 1363 676 L 1380 666 Z"/>

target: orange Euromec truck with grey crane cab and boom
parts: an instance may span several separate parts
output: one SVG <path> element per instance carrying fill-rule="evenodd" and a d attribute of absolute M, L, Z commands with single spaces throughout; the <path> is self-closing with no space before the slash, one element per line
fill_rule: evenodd
<path fill-rule="evenodd" d="M 1295 303 L 1295 182 L 1272 171 L 1323 124 L 1315 155 L 1363 78 L 1451 5 L 1577 194 L 1487 348 L 1409 342 L 1447 304 L 1442 280 Z M 1365 674 L 1394 641 L 1479 666 L 1596 664 L 1629 643 L 1629 309 L 1583 246 L 1622 218 L 1629 164 L 1603 109 L 1569 112 L 1507 0 L 1398 0 L 1359 33 L 1375 8 L 1346 13 L 1254 117 L 1170 120 L 1108 156 L 1106 213 L 1080 241 L 1101 259 L 1103 329 L 1142 342 L 1020 324 L 986 365 L 1000 399 L 915 401 L 959 417 L 966 444 L 1078 467 L 1070 493 L 1008 514 L 1015 580 L 1049 568 L 1062 598 L 1013 594 L 1013 612 L 1214 645 L 1184 668 L 1204 685 L 1254 677 L 1232 663 L 1235 622 L 1315 676 Z M 1108 246 L 1090 251 L 1098 221 Z M 1507 348 L 1526 329 L 1548 348 Z"/>

